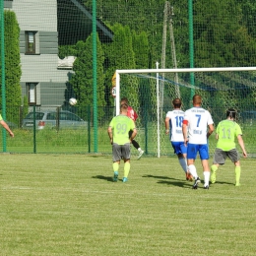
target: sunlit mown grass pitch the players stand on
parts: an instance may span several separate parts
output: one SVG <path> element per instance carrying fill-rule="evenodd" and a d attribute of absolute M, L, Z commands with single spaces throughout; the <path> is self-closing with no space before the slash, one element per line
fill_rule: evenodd
<path fill-rule="evenodd" d="M 176 158 L 134 157 L 128 183 L 111 181 L 111 156 L 0 158 L 1 256 L 256 253 L 254 159 L 241 160 L 241 187 L 228 160 L 193 190 Z"/>

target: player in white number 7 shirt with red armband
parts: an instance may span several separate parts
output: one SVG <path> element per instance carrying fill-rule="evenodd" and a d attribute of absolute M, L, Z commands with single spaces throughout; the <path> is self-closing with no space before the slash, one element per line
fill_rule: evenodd
<path fill-rule="evenodd" d="M 208 138 L 214 132 L 214 121 L 210 112 L 201 104 L 202 97 L 193 96 L 193 107 L 185 111 L 182 124 L 183 138 L 187 145 L 188 170 L 195 179 L 193 189 L 197 189 L 201 182 L 194 164 L 198 153 L 204 171 L 205 189 L 209 189 L 210 180 Z"/>

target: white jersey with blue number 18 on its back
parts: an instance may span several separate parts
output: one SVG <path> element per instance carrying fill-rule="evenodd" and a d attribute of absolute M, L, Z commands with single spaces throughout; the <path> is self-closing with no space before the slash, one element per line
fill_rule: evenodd
<path fill-rule="evenodd" d="M 184 119 L 184 111 L 172 110 L 166 113 L 169 118 L 170 140 L 172 142 L 183 142 L 182 122 Z"/>

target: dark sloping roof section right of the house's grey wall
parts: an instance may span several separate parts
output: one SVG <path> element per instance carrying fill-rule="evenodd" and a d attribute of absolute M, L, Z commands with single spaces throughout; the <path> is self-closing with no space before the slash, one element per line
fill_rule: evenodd
<path fill-rule="evenodd" d="M 81 0 L 57 0 L 59 45 L 75 44 L 86 40 L 93 32 L 93 15 Z M 96 20 L 96 32 L 101 42 L 112 41 L 111 32 L 102 22 Z"/>

